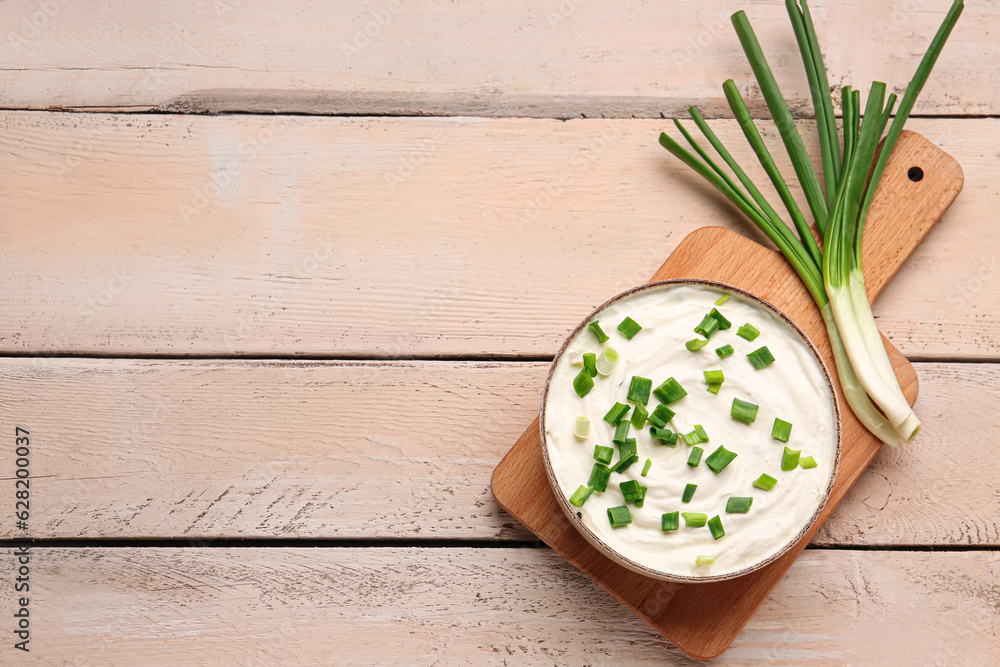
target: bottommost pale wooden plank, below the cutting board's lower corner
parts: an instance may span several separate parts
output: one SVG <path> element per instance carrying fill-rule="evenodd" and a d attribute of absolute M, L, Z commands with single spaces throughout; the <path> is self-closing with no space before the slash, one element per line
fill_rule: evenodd
<path fill-rule="evenodd" d="M 698 664 L 547 549 L 34 548 L 30 568 L 31 653 L 6 641 L 5 664 Z M 809 551 L 713 664 L 996 664 L 998 574 L 991 552 Z"/>

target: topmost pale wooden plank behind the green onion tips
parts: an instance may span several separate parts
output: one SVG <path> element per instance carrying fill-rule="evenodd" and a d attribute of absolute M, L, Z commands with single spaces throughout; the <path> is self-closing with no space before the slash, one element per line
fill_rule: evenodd
<path fill-rule="evenodd" d="M 831 84 L 905 86 L 948 5 L 813 3 Z M 740 6 L 803 112 L 808 86 L 778 0 L 179 0 L 169 11 L 11 0 L 0 106 L 660 118 L 697 102 L 719 113 L 725 79 L 752 81 L 729 22 Z M 998 30 L 995 4 L 969 3 L 917 113 L 998 112 Z"/>

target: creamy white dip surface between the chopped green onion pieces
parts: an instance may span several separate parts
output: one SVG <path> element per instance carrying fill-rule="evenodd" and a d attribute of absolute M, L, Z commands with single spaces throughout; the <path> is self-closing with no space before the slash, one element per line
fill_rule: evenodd
<path fill-rule="evenodd" d="M 618 447 L 612 445 L 614 426 L 603 417 L 615 402 L 626 400 L 633 375 L 652 379 L 655 389 L 667 378 L 676 378 L 688 395 L 670 405 L 676 416 L 667 428 L 684 434 L 701 424 L 709 442 L 702 462 L 687 465 L 691 446 L 683 438 L 676 446 L 664 446 L 649 433 L 650 424 L 630 428 L 636 438 L 639 460 L 622 474 L 612 473 L 607 491 L 594 492 L 579 512 L 583 523 L 600 541 L 619 555 L 639 565 L 667 575 L 682 577 L 721 576 L 760 563 L 785 547 L 809 523 L 821 503 L 834 471 L 837 426 L 834 398 L 825 375 L 812 351 L 799 334 L 784 321 L 754 301 L 737 293 L 721 306 L 715 301 L 723 292 L 698 285 L 664 285 L 638 292 L 612 303 L 595 315 L 610 337 L 603 345 L 586 327 L 569 342 L 552 373 L 545 410 L 545 447 L 555 480 L 569 498 L 587 484 L 594 466 L 594 445 L 614 447 L 611 467 L 618 461 Z M 718 308 L 732 328 L 716 332 L 704 348 L 689 352 L 685 341 L 700 338 L 694 328 L 712 308 Z M 618 324 L 631 317 L 642 326 L 629 340 Z M 760 331 L 753 342 L 736 335 L 744 323 Z M 720 359 L 716 348 L 732 345 L 735 353 Z M 747 353 L 762 346 L 775 362 L 756 370 Z M 600 353 L 604 346 L 618 351 L 620 360 L 608 377 L 598 375 L 585 397 L 577 396 L 573 378 L 581 366 L 573 365 L 586 352 Z M 703 372 L 721 369 L 725 382 L 718 395 L 707 391 Z M 730 416 L 733 398 L 760 406 L 756 421 L 747 425 Z M 650 395 L 649 412 L 659 405 Z M 634 407 L 633 407 L 634 409 Z M 627 418 L 631 417 L 630 410 Z M 573 434 L 577 417 L 590 419 L 590 434 L 580 440 Z M 775 417 L 792 423 L 788 447 L 812 456 L 818 466 L 784 472 L 781 459 L 785 443 L 771 437 Z M 705 465 L 705 459 L 724 445 L 737 457 L 721 473 Z M 646 459 L 652 466 L 646 477 Z M 770 491 L 754 488 L 762 473 L 776 478 Z M 619 483 L 637 480 L 648 487 L 643 506 L 628 503 L 632 523 L 612 528 L 607 509 L 625 505 Z M 685 485 L 697 484 L 694 498 L 681 502 Z M 746 514 L 726 512 L 730 496 L 750 496 L 753 505 Z M 667 512 L 701 512 L 722 519 L 726 534 L 714 540 L 708 527 L 687 528 L 681 519 L 678 530 L 661 530 L 661 516 Z M 710 565 L 696 565 L 699 556 L 715 559 Z"/>

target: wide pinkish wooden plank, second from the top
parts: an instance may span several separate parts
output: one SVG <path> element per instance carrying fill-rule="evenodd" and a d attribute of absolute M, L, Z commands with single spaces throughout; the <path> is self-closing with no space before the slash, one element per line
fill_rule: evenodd
<path fill-rule="evenodd" d="M 666 125 L 0 114 L 0 351 L 551 355 L 692 230 L 761 239 Z M 912 126 L 968 181 L 876 315 L 911 358 L 996 359 L 1000 120 Z"/>

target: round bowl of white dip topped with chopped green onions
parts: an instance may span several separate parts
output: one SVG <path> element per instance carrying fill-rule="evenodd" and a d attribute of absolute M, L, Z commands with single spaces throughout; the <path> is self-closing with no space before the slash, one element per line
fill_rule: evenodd
<path fill-rule="evenodd" d="M 651 283 L 597 308 L 553 361 L 540 430 L 584 537 L 678 582 L 781 557 L 818 518 L 840 460 L 815 347 L 771 304 L 711 281 Z"/>

